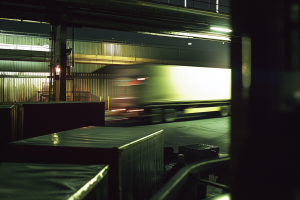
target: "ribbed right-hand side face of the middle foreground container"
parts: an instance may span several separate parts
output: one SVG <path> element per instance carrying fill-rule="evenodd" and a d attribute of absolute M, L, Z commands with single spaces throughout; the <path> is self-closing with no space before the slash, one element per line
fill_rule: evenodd
<path fill-rule="evenodd" d="M 119 156 L 122 199 L 149 199 L 160 188 L 162 138 L 163 132 L 122 149 Z"/>

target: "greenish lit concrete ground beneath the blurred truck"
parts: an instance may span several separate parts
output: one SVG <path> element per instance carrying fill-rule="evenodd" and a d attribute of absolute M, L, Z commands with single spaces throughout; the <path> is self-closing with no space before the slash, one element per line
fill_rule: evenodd
<path fill-rule="evenodd" d="M 111 120 L 111 118 L 106 118 Z M 177 120 L 172 123 L 148 125 L 137 121 L 117 121 L 108 123 L 108 127 L 143 126 L 145 129 L 164 130 L 165 146 L 174 148 L 178 152 L 178 145 L 209 144 L 220 147 L 220 154 L 228 154 L 230 147 L 230 117 L 208 118 L 205 115 Z"/>

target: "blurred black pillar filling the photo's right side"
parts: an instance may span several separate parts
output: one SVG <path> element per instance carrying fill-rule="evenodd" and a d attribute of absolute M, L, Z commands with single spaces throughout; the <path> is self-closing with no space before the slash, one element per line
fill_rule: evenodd
<path fill-rule="evenodd" d="M 296 199 L 299 1 L 231 5 L 232 199 Z"/>

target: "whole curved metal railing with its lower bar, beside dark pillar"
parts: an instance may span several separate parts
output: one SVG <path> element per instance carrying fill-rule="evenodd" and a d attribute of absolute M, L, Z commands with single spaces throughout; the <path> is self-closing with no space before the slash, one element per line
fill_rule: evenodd
<path fill-rule="evenodd" d="M 199 179 L 198 177 L 201 173 L 227 168 L 229 167 L 229 163 L 230 157 L 208 161 L 198 161 L 189 164 L 179 170 L 150 200 L 180 199 L 178 194 L 182 192 L 182 190 L 185 190 L 185 199 L 199 199 L 199 195 L 200 198 L 205 199 L 206 185 L 212 185 L 228 192 L 228 186 L 204 179 Z M 202 187 L 201 191 L 199 191 L 199 185 L 201 184 L 205 187 Z M 203 188 L 205 189 L 204 191 Z M 199 194 L 198 192 L 202 192 L 202 194 Z"/>

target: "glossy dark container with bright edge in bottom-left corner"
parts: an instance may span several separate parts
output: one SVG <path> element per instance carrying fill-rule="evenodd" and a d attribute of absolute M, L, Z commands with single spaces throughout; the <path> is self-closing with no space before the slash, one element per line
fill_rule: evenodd
<path fill-rule="evenodd" d="M 0 199 L 108 199 L 107 171 L 107 165 L 1 163 Z"/>

